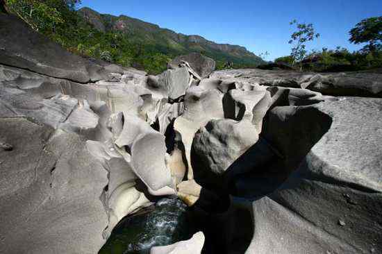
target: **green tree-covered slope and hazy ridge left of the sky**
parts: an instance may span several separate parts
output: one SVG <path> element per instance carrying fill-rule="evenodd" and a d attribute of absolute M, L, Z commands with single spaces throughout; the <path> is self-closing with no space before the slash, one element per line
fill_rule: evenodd
<path fill-rule="evenodd" d="M 77 11 L 80 0 L 5 0 L 5 3 L 9 12 L 72 53 L 144 69 L 150 74 L 167 69 L 167 62 L 175 56 L 195 51 L 215 59 L 218 68 L 228 61 L 237 68 L 263 63 L 239 46 L 226 52 L 197 35 L 191 38 L 131 17 L 101 15 L 89 8 Z"/>

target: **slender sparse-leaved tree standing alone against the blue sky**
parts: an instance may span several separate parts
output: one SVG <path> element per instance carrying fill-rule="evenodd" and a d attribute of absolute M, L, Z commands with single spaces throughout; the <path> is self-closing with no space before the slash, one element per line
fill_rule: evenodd
<path fill-rule="evenodd" d="M 289 44 L 293 44 L 292 52 L 290 53 L 290 56 L 293 58 L 292 65 L 303 60 L 306 56 L 306 42 L 313 41 L 319 37 L 319 33 L 315 33 L 313 24 L 297 23 L 296 19 L 290 22 L 291 26 L 294 24 L 297 26 L 297 31 L 292 33 L 290 41 L 288 42 Z"/>

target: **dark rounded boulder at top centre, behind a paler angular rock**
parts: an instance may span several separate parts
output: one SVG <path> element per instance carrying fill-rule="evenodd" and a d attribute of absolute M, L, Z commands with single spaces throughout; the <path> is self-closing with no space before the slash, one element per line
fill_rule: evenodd
<path fill-rule="evenodd" d="M 194 71 L 197 71 L 197 74 L 199 74 L 201 78 L 206 78 L 211 72 L 215 71 L 215 61 L 203 56 L 201 53 L 190 53 L 185 56 L 177 56 L 174 60 L 169 62 L 169 69 L 176 69 L 182 61 L 188 62 L 190 67 Z"/>

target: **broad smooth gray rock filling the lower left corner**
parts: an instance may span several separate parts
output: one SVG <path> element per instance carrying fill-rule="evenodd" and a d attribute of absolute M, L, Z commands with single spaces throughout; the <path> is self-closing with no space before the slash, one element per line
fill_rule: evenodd
<path fill-rule="evenodd" d="M 108 214 L 107 171 L 85 142 L 25 117 L 0 118 L 1 253 L 97 253 Z"/>

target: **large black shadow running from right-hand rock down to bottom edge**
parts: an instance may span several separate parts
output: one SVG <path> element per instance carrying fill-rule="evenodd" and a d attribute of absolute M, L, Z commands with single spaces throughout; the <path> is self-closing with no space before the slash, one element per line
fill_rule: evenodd
<path fill-rule="evenodd" d="M 287 100 L 288 92 L 283 99 Z M 283 100 L 281 99 L 281 100 Z M 224 210 L 224 200 L 231 195 L 247 203 L 278 189 L 304 160 L 310 149 L 331 127 L 332 119 L 314 106 L 275 107 L 267 112 L 258 142 L 251 146 L 222 176 L 212 173 L 192 149 L 194 178 L 203 186 L 199 201 L 194 205 L 195 223 L 206 236 L 204 253 L 244 253 L 254 234 L 251 207 L 229 214 L 234 204 Z M 216 210 L 219 208 L 219 210 Z M 222 214 L 229 214 L 226 217 Z M 219 219 L 220 218 L 220 219 Z M 221 219 L 224 218 L 224 219 Z M 246 232 L 224 228 L 235 221 Z M 233 227 L 235 228 L 235 227 Z M 227 239 L 227 237 L 229 238 Z M 238 244 L 229 239 L 242 239 Z"/>

